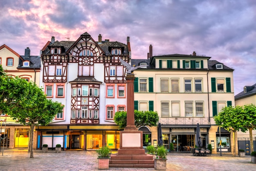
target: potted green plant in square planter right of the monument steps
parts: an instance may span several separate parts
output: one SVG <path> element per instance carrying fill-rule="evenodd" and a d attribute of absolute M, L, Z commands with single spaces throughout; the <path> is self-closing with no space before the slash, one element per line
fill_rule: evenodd
<path fill-rule="evenodd" d="M 156 158 L 154 158 L 154 168 L 155 170 L 166 170 L 166 156 L 167 149 L 161 145 L 156 149 Z"/>

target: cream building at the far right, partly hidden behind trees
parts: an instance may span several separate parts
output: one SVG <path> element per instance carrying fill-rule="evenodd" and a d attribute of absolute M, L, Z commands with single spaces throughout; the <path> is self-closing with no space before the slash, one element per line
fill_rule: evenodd
<path fill-rule="evenodd" d="M 254 104 L 256 105 L 256 84 L 254 85 L 247 85 L 244 87 L 244 90 L 240 93 L 238 93 L 235 96 L 235 105 L 246 105 L 246 104 Z M 254 149 L 256 145 L 256 130 L 252 131 L 252 137 L 254 140 Z M 249 132 L 237 132 L 237 138 L 238 138 L 238 144 L 240 145 L 239 147 L 241 149 L 246 149 L 245 151 L 247 152 L 247 155 L 250 155 L 249 151 Z"/>

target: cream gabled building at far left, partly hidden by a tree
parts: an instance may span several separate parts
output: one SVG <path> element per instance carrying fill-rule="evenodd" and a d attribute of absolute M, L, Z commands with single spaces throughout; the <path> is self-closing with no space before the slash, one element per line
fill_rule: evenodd
<path fill-rule="evenodd" d="M 34 81 L 37 85 L 40 82 L 40 57 L 31 56 L 30 49 L 25 49 L 25 55 L 21 56 L 7 45 L 0 46 L 0 64 L 7 75 L 20 77 L 27 81 Z M 28 147 L 29 127 L 23 126 L 12 120 L 9 116 L 1 114 L 0 134 L 1 146 L 23 148 Z M 5 128 L 5 129 L 4 129 Z M 36 136 L 35 136 L 36 137 Z M 36 139 L 35 139 L 36 140 Z"/>

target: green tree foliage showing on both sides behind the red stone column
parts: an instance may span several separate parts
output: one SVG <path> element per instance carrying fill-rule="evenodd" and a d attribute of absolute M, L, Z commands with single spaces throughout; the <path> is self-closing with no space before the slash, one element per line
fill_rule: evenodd
<path fill-rule="evenodd" d="M 134 110 L 135 126 L 141 127 L 148 125 L 150 127 L 157 126 L 159 116 L 157 112 L 153 111 L 137 111 Z M 115 123 L 119 126 L 119 129 L 126 127 L 127 112 L 115 112 Z"/>

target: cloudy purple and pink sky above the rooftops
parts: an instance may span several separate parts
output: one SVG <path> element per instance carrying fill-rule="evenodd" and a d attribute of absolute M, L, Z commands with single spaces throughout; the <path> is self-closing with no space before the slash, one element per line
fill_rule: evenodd
<path fill-rule="evenodd" d="M 256 83 L 256 0 L 0 0 L 0 46 L 31 55 L 55 40 L 126 44 L 132 59 L 184 54 L 234 69 L 234 94 Z"/>

